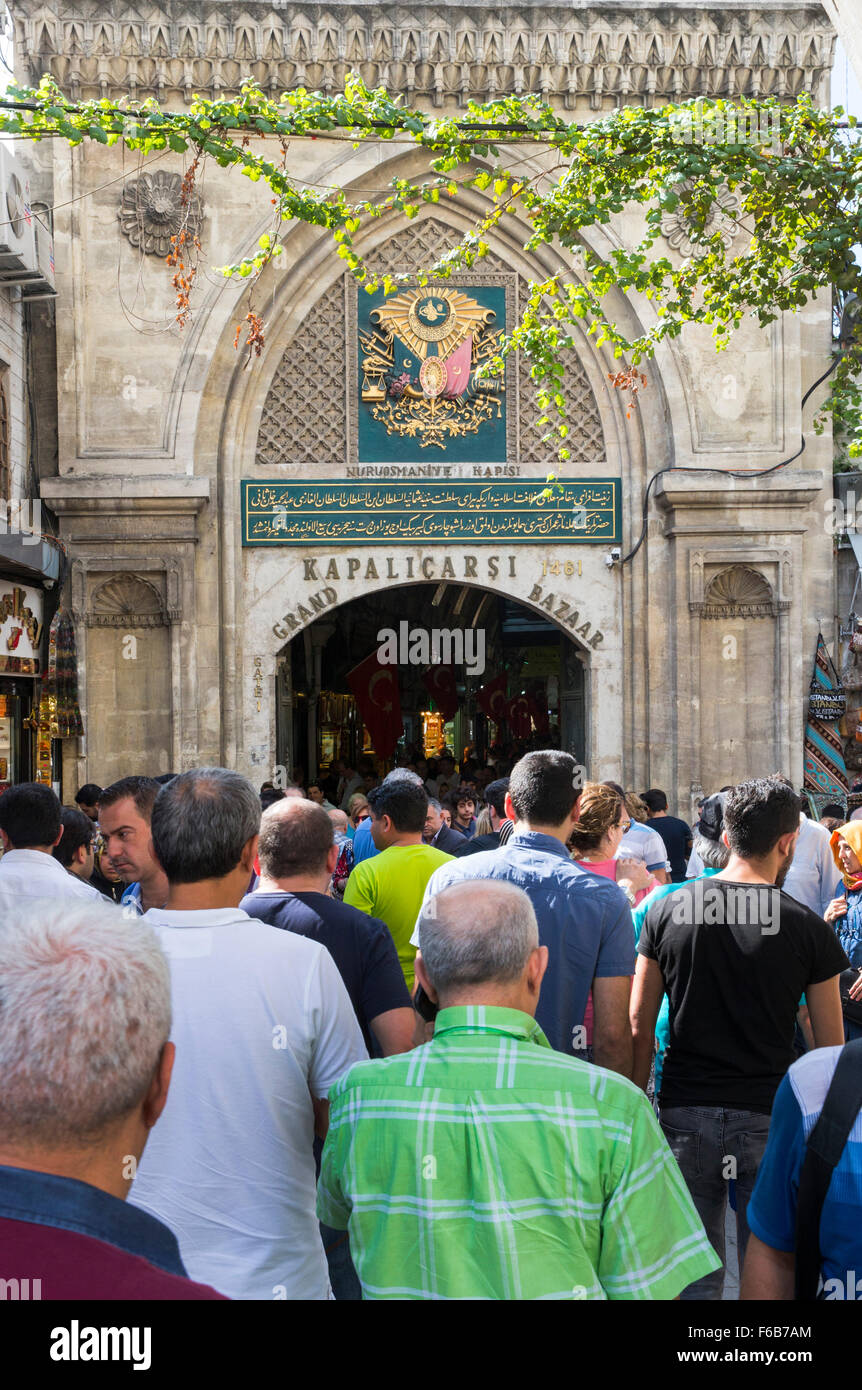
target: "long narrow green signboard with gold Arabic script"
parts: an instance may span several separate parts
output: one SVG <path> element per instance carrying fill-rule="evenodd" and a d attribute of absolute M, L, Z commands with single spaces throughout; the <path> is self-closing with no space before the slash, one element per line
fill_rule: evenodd
<path fill-rule="evenodd" d="M 477 482 L 242 481 L 243 545 L 620 542 L 620 480 Z"/>

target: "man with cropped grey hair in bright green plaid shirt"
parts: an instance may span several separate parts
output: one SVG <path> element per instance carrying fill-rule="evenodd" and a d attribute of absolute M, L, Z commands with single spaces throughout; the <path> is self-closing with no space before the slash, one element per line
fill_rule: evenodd
<path fill-rule="evenodd" d="M 676 1298 L 719 1268 L 642 1091 L 537 1024 L 546 963 L 513 884 L 425 905 L 432 1041 L 330 1093 L 317 1212 L 363 1298 Z"/>

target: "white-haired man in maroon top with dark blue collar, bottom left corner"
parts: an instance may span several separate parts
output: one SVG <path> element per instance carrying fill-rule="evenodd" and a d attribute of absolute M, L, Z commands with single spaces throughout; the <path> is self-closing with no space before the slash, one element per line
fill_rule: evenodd
<path fill-rule="evenodd" d="M 124 1200 L 174 1062 L 154 933 L 107 902 L 31 898 L 0 919 L 0 999 L 3 1295 L 220 1298 Z"/>

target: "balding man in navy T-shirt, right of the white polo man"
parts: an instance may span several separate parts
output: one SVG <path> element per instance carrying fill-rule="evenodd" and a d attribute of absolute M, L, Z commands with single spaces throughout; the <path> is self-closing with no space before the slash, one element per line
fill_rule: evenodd
<path fill-rule="evenodd" d="M 298 796 L 260 821 L 260 881 L 242 899 L 250 917 L 324 945 L 341 973 L 368 1051 L 406 1052 L 414 1015 L 395 942 L 378 917 L 328 897 L 338 860 L 331 815 Z"/>

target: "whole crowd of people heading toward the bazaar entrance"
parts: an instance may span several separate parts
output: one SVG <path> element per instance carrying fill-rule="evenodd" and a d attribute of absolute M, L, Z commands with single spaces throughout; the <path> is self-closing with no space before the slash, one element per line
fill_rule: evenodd
<path fill-rule="evenodd" d="M 735 1219 L 741 1298 L 815 1297 L 813 1219 L 855 1297 L 862 1091 L 801 1176 L 862 1076 L 862 820 L 492 753 L 0 796 L 0 1279 L 716 1300 Z"/>

